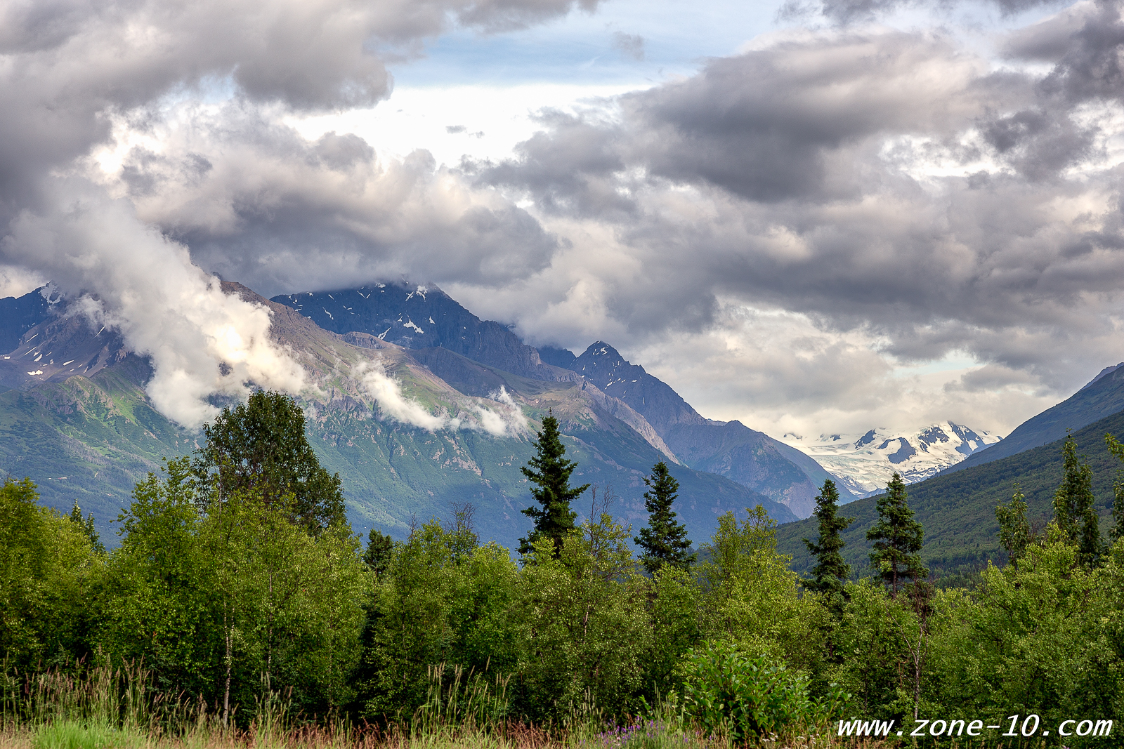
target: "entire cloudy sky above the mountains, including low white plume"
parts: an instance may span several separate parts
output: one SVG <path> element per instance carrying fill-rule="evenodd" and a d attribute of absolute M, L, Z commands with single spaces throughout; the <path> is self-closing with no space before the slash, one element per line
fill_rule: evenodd
<path fill-rule="evenodd" d="M 0 2 L 0 296 L 189 426 L 303 386 L 221 276 L 436 283 L 776 437 L 1006 435 L 1124 360 L 1122 4 Z"/>

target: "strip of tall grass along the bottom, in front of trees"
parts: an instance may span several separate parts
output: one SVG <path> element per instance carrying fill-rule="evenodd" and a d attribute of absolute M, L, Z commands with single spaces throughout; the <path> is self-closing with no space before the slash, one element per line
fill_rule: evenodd
<path fill-rule="evenodd" d="M 531 725 L 511 714 L 508 678 L 487 669 L 433 666 L 426 702 L 386 725 L 354 725 L 338 715 L 302 721 L 284 695 L 266 692 L 247 727 L 229 728 L 206 702 L 154 689 L 142 664 L 79 666 L 74 673 L 0 673 L 0 749 L 733 749 L 665 703 L 606 724 L 587 695 L 561 724 Z M 756 746 L 894 745 L 794 733 Z"/>

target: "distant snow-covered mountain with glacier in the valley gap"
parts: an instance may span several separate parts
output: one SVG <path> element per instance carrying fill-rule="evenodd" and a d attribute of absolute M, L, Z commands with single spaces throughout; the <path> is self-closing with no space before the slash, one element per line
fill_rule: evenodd
<path fill-rule="evenodd" d="M 912 484 L 960 463 L 1001 437 L 942 421 L 910 435 L 871 429 L 864 435 L 821 435 L 810 439 L 785 435 L 781 439 L 815 458 L 839 477 L 841 485 L 868 496 L 886 488 L 895 472 Z"/>

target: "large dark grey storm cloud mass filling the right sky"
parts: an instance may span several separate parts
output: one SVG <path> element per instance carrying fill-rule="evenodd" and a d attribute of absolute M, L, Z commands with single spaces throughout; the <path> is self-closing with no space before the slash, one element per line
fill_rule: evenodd
<path fill-rule="evenodd" d="M 1045 75 L 941 35 L 779 36 L 622 97 L 609 124 L 551 120 L 483 175 L 613 223 L 641 268 L 606 292 L 628 329 L 700 329 L 733 299 L 1053 386 L 1052 349 L 1111 335 L 1124 281 L 1121 170 L 1103 165 L 1124 26 L 1112 4 L 1066 22 Z"/>

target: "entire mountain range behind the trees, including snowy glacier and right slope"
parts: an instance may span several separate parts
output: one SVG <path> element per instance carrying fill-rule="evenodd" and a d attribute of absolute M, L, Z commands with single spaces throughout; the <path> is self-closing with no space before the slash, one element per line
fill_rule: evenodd
<path fill-rule="evenodd" d="M 553 412 L 579 463 L 574 478 L 613 495 L 614 514 L 637 527 L 646 519 L 643 477 L 664 460 L 680 481 L 677 509 L 696 542 L 719 513 L 760 503 L 788 523 L 779 530 L 781 548 L 803 568 L 809 563 L 799 539 L 813 535 L 814 522 L 795 521 L 808 517 L 823 481 L 835 478 L 847 501 L 899 471 L 918 479 L 909 492 L 926 527 L 923 552 L 936 568 L 962 569 L 1001 557 L 994 506 L 1013 481 L 1023 481 L 1032 510 L 1049 511 L 1067 431 L 1093 455 L 1106 513 L 1115 464 L 1098 439 L 1103 430 L 1124 433 L 1120 365 L 1001 441 L 941 422 L 909 435 L 872 429 L 787 445 L 738 421 L 706 419 L 605 341 L 581 355 L 536 349 L 433 285 L 274 300 L 234 283 L 224 290 L 270 311 L 271 335 L 314 385 L 298 398 L 308 436 L 321 463 L 343 477 L 357 531 L 401 537 L 417 520 L 447 518 L 454 503 L 471 502 L 481 536 L 514 546 L 529 529 L 519 512 L 531 503 L 519 467 L 533 455 L 534 430 Z M 29 476 L 60 510 L 78 501 L 111 542 L 111 521 L 134 483 L 163 457 L 197 449 L 199 435 L 153 408 L 146 358 L 72 313 L 49 289 L 0 300 L 0 341 L 10 346 L 0 358 L 0 472 Z M 379 401 L 369 382 L 375 372 L 433 423 L 411 423 Z M 855 564 L 864 559 L 862 526 L 873 508 L 874 497 L 847 505 L 859 518 L 845 536 Z"/>

